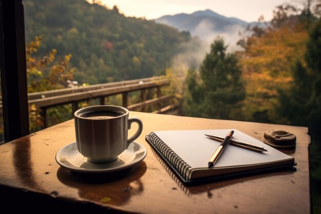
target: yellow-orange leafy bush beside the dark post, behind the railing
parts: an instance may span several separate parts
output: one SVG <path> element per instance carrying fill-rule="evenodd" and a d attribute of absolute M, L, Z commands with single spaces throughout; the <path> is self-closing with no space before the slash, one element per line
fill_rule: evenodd
<path fill-rule="evenodd" d="M 51 50 L 43 57 L 34 57 L 32 54 L 37 52 L 41 45 L 42 36 L 36 36 L 33 41 L 26 45 L 27 81 L 28 92 L 47 91 L 68 86 L 67 81 L 73 79 L 73 68 L 69 68 L 71 55 L 65 55 L 61 61 L 56 61 L 56 50 Z M 57 107 L 59 109 L 64 107 Z M 49 115 L 55 114 L 57 120 L 61 120 L 61 111 L 51 109 Z M 65 109 L 66 110 L 66 109 Z M 29 106 L 30 131 L 34 132 L 41 129 L 43 119 L 41 109 L 35 105 Z"/>

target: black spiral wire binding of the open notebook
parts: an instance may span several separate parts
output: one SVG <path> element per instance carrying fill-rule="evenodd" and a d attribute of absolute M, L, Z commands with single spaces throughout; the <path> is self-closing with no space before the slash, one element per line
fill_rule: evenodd
<path fill-rule="evenodd" d="M 158 149 L 163 157 L 171 164 L 172 167 L 184 178 L 190 180 L 191 166 L 188 165 L 182 158 L 180 158 L 169 146 L 160 140 L 154 132 L 149 134 L 148 140 Z"/>

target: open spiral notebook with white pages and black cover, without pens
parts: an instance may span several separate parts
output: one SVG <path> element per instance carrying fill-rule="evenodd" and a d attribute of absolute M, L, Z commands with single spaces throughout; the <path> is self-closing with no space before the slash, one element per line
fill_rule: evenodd
<path fill-rule="evenodd" d="M 262 146 L 268 151 L 256 152 L 228 145 L 215 165 L 208 168 L 208 161 L 220 142 L 205 134 L 225 137 L 231 130 L 234 130 L 234 140 Z M 293 157 L 236 129 L 154 131 L 146 136 L 146 141 L 185 183 L 239 177 L 295 165 Z"/>

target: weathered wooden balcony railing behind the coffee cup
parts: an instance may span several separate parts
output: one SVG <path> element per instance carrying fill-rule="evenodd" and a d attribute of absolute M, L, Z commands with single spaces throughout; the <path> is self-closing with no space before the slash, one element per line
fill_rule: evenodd
<path fill-rule="evenodd" d="M 28 94 L 28 103 L 41 108 L 44 126 L 48 126 L 47 109 L 72 104 L 72 112 L 79 108 L 79 102 L 98 99 L 99 105 L 105 105 L 105 98 L 111 95 L 122 94 L 122 106 L 129 110 L 146 111 L 149 106 L 157 106 L 154 113 L 166 113 L 178 107 L 170 102 L 171 95 L 163 95 L 161 88 L 168 86 L 170 81 L 166 76 L 155 76 L 139 80 L 122 81 L 115 83 L 97 84 L 85 87 L 75 87 L 67 89 L 50 90 Z M 147 100 L 147 89 L 156 88 L 156 98 Z M 128 93 L 132 91 L 141 92 L 141 102 L 128 105 Z M 160 105 L 164 102 L 169 103 L 167 106 Z"/>

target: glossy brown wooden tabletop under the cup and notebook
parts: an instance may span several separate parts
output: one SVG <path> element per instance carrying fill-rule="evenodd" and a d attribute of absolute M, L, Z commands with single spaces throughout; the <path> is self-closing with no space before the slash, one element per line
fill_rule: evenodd
<path fill-rule="evenodd" d="M 56 152 L 75 141 L 73 120 L 0 146 L 1 206 L 48 211 L 111 211 L 133 213 L 310 213 L 306 127 L 188 118 L 130 112 L 144 130 L 136 142 L 148 151 L 143 162 L 105 174 L 71 172 L 55 161 Z M 133 133 L 135 130 L 130 133 Z M 167 171 L 145 141 L 145 135 L 171 129 L 238 129 L 263 141 L 268 129 L 284 129 L 297 137 L 295 149 L 281 149 L 295 158 L 296 171 L 184 186 Z M 12 206 L 12 204 L 16 206 Z M 68 205 L 68 206 L 67 206 Z M 94 213 L 94 212 L 93 212 Z"/>

